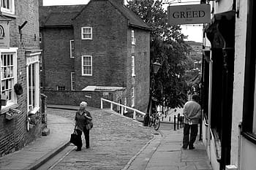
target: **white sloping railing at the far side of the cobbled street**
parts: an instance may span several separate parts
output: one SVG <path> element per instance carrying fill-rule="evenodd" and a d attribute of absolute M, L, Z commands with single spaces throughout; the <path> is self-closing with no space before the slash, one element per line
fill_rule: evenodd
<path fill-rule="evenodd" d="M 123 104 L 118 104 L 118 103 L 116 103 L 116 102 L 114 102 L 114 101 L 110 101 L 110 100 L 107 100 L 107 99 L 105 99 L 105 98 L 100 98 L 100 109 L 103 109 L 103 101 L 106 101 L 106 102 L 110 103 L 110 109 L 111 109 L 111 110 L 113 110 L 113 104 L 116 104 L 117 106 L 121 107 L 121 115 L 124 115 L 124 109 L 125 109 L 125 108 L 132 110 L 132 111 L 133 111 L 132 118 L 133 118 L 134 120 L 136 119 L 136 113 L 139 113 L 140 115 L 143 115 L 143 116 L 146 115 L 146 113 L 141 112 L 141 111 L 138 110 L 138 109 L 134 109 L 134 108 L 132 108 L 132 107 L 127 107 L 127 106 L 125 106 L 125 105 L 123 105 Z"/>

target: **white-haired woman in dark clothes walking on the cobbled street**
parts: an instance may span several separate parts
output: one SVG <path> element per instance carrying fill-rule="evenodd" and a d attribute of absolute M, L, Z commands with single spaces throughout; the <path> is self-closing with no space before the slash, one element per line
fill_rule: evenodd
<path fill-rule="evenodd" d="M 89 132 L 90 130 L 86 128 L 86 125 L 92 120 L 91 113 L 86 110 L 87 103 L 86 101 L 82 101 L 80 103 L 80 108 L 75 113 L 75 131 L 77 131 L 78 136 L 80 136 L 80 142 L 78 144 L 78 148 L 76 151 L 80 151 L 82 149 L 82 132 L 86 138 L 86 149 L 90 147 L 90 138 Z"/>

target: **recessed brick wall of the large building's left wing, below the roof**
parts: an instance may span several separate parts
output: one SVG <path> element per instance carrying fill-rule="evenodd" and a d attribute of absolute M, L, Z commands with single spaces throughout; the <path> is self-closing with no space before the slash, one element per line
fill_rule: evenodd
<path fill-rule="evenodd" d="M 74 59 L 69 55 L 70 39 L 73 39 L 72 28 L 48 28 L 42 31 L 45 80 L 42 83 L 46 90 L 56 90 L 57 85 L 71 90 L 70 73 L 74 71 Z"/>

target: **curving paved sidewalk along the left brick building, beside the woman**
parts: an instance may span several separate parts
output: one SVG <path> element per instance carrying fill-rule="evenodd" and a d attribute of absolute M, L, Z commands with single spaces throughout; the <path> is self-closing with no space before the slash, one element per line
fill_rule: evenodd
<path fill-rule="evenodd" d="M 73 121 L 48 114 L 50 134 L 41 136 L 17 152 L 0 158 L 0 169 L 37 169 L 69 144 Z"/>

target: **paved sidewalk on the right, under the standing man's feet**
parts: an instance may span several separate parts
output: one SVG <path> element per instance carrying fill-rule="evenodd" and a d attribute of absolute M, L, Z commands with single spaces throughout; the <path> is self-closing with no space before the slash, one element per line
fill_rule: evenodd
<path fill-rule="evenodd" d="M 161 132 L 123 170 L 212 170 L 203 142 L 182 150 L 183 128 Z"/>

